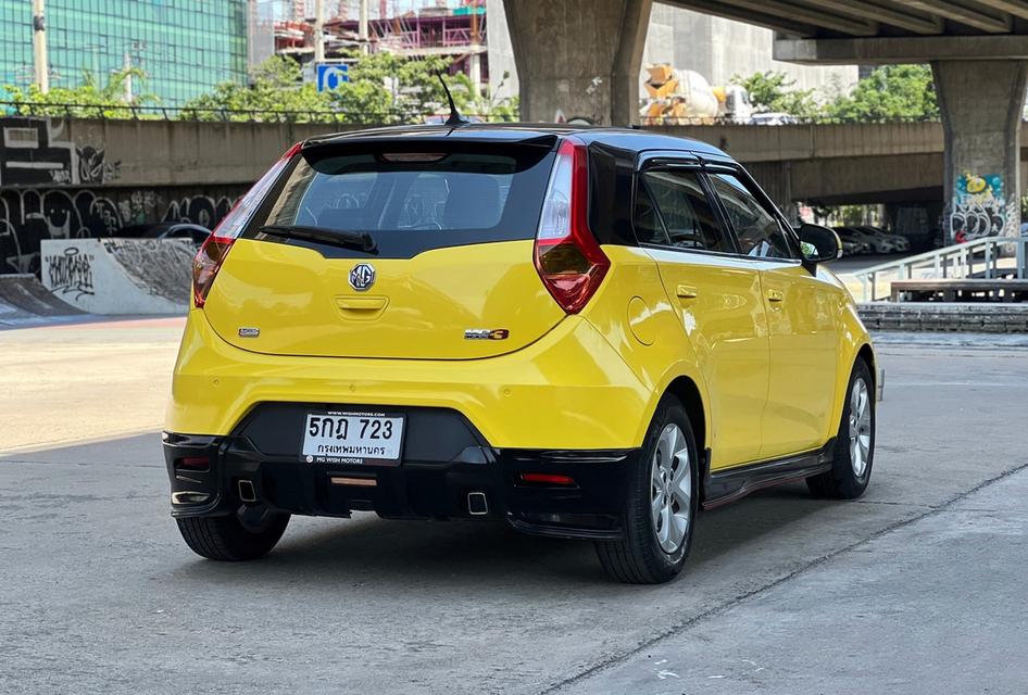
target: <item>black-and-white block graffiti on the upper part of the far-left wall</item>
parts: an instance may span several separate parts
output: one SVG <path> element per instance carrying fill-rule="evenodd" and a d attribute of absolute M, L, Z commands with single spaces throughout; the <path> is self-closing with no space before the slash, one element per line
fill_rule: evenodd
<path fill-rule="evenodd" d="M 0 186 L 83 186 L 121 177 L 102 144 L 76 144 L 60 118 L 4 118 L 0 127 Z"/>

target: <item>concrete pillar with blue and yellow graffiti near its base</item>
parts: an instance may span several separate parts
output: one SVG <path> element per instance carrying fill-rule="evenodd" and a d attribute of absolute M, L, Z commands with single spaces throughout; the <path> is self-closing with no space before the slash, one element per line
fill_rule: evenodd
<path fill-rule="evenodd" d="M 1028 61 L 931 64 L 945 132 L 948 243 L 1020 228 L 1020 118 Z"/>

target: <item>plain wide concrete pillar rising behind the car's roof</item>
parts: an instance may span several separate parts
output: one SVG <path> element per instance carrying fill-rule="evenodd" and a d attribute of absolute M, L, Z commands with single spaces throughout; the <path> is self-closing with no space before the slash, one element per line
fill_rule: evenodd
<path fill-rule="evenodd" d="M 506 0 L 522 121 L 639 121 L 652 0 Z"/>

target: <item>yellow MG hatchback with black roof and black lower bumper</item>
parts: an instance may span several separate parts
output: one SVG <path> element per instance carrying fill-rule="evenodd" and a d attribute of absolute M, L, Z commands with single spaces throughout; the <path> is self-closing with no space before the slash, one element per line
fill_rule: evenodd
<path fill-rule="evenodd" d="M 667 581 L 700 508 L 864 492 L 875 356 L 822 264 L 839 254 L 691 140 L 309 140 L 197 255 L 172 514 L 218 560 L 266 554 L 293 514 L 373 510 L 587 539 L 613 578 Z"/>

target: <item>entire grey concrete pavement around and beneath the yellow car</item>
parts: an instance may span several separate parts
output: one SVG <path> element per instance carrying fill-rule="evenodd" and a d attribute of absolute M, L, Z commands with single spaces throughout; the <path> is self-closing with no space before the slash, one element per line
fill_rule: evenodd
<path fill-rule="evenodd" d="M 124 407 L 152 419 L 166 371 L 151 359 L 174 338 L 114 330 Z M 14 332 L 0 340 L 113 364 L 88 336 Z M 98 416 L 67 435 L 100 441 L 26 451 L 32 422 L 110 400 L 53 364 L 63 400 L 2 403 L 24 419 L 0 429 L 0 692 L 1024 693 L 1028 483 L 1010 471 L 1028 463 L 1028 351 L 883 345 L 880 361 L 865 497 L 790 485 L 705 513 L 664 586 L 609 582 L 585 543 L 371 515 L 294 518 L 260 563 L 201 560 L 167 516 L 155 427 L 103 435 L 129 420 Z"/>

